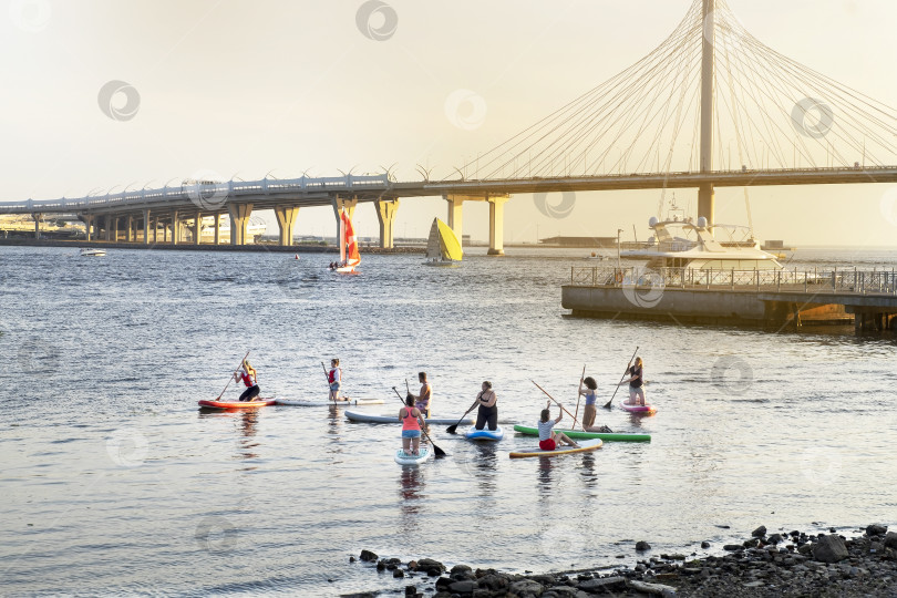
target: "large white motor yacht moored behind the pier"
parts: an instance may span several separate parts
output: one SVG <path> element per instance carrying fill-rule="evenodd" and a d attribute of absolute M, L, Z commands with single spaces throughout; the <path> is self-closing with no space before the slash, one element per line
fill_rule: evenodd
<path fill-rule="evenodd" d="M 646 261 L 652 270 L 681 268 L 693 270 L 781 270 L 776 257 L 760 249 L 750 234 L 735 236 L 746 228 L 733 225 L 708 226 L 701 216 L 697 221 L 678 217 L 658 220 L 648 226 L 653 236 L 638 249 L 620 251 L 621 258 Z M 724 237 L 724 238 L 723 238 Z"/>

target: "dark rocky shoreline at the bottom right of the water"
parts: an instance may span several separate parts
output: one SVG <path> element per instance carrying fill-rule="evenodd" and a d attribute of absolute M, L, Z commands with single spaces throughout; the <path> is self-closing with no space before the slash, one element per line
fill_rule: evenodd
<path fill-rule="evenodd" d="M 708 546 L 702 546 L 707 548 Z M 645 542 L 632 547 L 650 551 Z M 661 554 L 633 567 L 594 567 L 545 575 L 516 575 L 495 569 L 421 558 L 403 563 L 362 550 L 359 560 L 381 575 L 406 580 L 408 598 L 589 598 L 591 596 L 897 596 L 897 533 L 872 524 L 847 538 L 798 530 L 767 534 L 764 526 L 740 544 L 726 544 L 721 556 L 689 558 Z M 350 558 L 355 561 L 355 557 Z M 347 598 L 401 595 L 390 589 L 344 595 Z"/>

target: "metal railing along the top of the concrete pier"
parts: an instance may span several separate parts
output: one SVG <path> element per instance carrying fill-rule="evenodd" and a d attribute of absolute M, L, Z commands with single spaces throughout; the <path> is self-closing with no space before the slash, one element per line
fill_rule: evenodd
<path fill-rule="evenodd" d="M 897 271 L 890 270 L 735 270 L 693 268 L 570 268 L 574 287 L 650 287 L 730 289 L 740 291 L 849 292 L 897 295 Z"/>

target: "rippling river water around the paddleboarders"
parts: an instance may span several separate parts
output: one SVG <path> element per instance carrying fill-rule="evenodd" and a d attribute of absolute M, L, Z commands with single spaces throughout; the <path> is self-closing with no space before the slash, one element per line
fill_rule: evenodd
<path fill-rule="evenodd" d="M 631 566 L 639 539 L 702 554 L 761 524 L 893 523 L 891 336 L 574 319 L 560 285 L 579 251 L 472 254 L 364 256 L 337 277 L 327 255 L 0 247 L 0 592 L 338 595 L 409 582 L 350 564 L 362 548 L 540 571 Z M 897 251 L 801 259 L 890 268 Z M 248 350 L 262 394 L 288 399 L 326 399 L 320 362 L 339 357 L 348 394 L 386 401 L 360 410 L 398 412 L 391 388 L 425 370 L 434 415 L 491 380 L 509 432 L 545 404 L 533 380 L 573 410 L 585 364 L 604 401 L 636 347 L 659 411 L 599 423 L 652 441 L 556 460 L 433 426 L 450 456 L 403 468 L 398 427 L 342 408 L 196 405 Z"/>

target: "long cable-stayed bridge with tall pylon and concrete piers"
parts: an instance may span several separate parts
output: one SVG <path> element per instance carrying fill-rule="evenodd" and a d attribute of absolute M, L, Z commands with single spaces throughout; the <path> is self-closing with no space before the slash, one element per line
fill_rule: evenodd
<path fill-rule="evenodd" d="M 488 202 L 489 252 L 502 254 L 503 206 L 515 194 L 698 188 L 698 215 L 713 223 L 715 187 L 893 183 L 897 110 L 764 45 L 725 0 L 694 0 L 647 56 L 455 171 L 447 179 L 415 182 L 389 173 L 194 178 L 158 189 L 0 204 L 0 214 L 32 214 L 37 230 L 43 214 L 75 213 L 89 234 L 147 244 L 178 243 L 190 221 L 198 241 L 200 216 L 217 224 L 228 215 L 230 243 L 241 245 L 252 210 L 271 208 L 281 244 L 290 245 L 300 207 L 351 214 L 359 202 L 374 202 L 381 245 L 391 247 L 399 200 L 442 196 L 458 235 L 463 203 Z"/>

